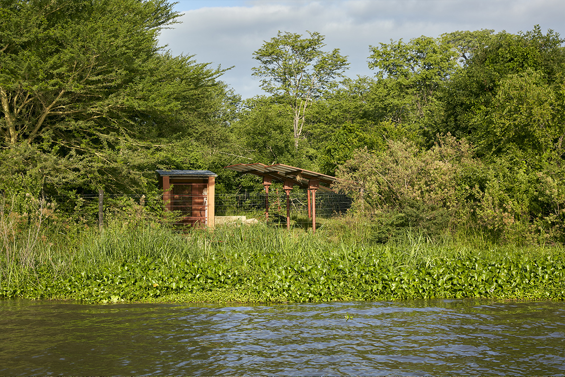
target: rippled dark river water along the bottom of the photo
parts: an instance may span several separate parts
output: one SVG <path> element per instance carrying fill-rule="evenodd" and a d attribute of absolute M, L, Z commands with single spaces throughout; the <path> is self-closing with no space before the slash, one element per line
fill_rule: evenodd
<path fill-rule="evenodd" d="M 0 375 L 565 376 L 565 303 L 4 300 Z"/>

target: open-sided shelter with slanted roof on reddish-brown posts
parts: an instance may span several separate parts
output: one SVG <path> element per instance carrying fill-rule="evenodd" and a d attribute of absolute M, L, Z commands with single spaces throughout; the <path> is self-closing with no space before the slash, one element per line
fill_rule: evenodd
<path fill-rule="evenodd" d="M 308 218 L 312 219 L 312 231 L 316 231 L 316 191 L 334 192 L 329 185 L 337 181 L 336 177 L 309 171 L 285 164 L 267 166 L 262 163 L 237 164 L 225 168 L 241 173 L 249 173 L 263 177 L 265 187 L 265 215 L 269 218 L 269 187 L 273 180 L 284 183 L 286 192 L 286 228 L 290 229 L 290 190 L 297 185 L 308 190 Z"/>

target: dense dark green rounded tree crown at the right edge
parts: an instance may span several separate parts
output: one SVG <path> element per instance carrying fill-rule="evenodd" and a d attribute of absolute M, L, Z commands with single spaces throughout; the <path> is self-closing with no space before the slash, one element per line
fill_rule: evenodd
<path fill-rule="evenodd" d="M 538 26 L 489 36 L 445 83 L 441 130 L 469 138 L 481 154 L 551 149 L 563 135 L 564 41 Z"/>

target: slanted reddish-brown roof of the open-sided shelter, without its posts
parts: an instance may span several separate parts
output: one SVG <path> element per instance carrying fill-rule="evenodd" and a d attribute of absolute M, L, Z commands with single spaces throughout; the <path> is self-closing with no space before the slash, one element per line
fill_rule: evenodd
<path fill-rule="evenodd" d="M 268 177 L 276 181 L 291 181 L 293 184 L 308 188 L 309 180 L 319 180 L 321 184 L 319 190 L 322 192 L 333 192 L 328 186 L 338 181 L 336 177 L 317 173 L 315 171 L 301 169 L 299 167 L 289 166 L 285 164 L 266 165 L 262 163 L 237 164 L 226 166 L 226 169 L 235 170 L 241 173 L 249 173 L 261 177 Z"/>

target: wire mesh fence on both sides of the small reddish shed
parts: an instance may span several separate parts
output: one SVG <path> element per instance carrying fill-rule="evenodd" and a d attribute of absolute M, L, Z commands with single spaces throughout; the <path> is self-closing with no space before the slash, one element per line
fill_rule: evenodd
<path fill-rule="evenodd" d="M 237 194 L 216 194 L 215 216 L 247 216 L 260 218 L 266 209 L 264 192 L 240 192 Z M 102 224 L 112 216 L 120 218 L 171 218 L 167 214 L 163 195 L 155 194 L 89 194 L 72 197 L 51 197 L 56 214 L 77 223 L 94 226 Z M 286 216 L 286 194 L 284 190 L 273 190 L 268 196 L 269 214 L 275 218 Z M 293 190 L 290 193 L 290 214 L 292 216 L 308 215 L 308 198 L 306 190 Z M 344 194 L 316 193 L 316 216 L 331 218 L 345 213 L 351 207 L 352 200 Z M 23 210 L 19 210 L 20 212 Z M 179 214 L 182 216 L 182 214 Z"/>

